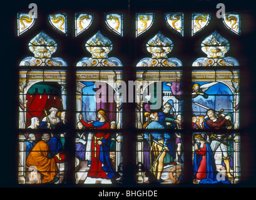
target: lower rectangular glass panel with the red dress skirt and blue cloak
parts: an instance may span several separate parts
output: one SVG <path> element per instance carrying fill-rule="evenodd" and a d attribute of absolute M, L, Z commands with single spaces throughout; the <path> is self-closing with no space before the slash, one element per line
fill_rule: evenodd
<path fill-rule="evenodd" d="M 111 128 L 115 128 L 111 124 Z M 123 181 L 121 133 L 99 131 L 76 133 L 76 184 L 117 184 Z"/>

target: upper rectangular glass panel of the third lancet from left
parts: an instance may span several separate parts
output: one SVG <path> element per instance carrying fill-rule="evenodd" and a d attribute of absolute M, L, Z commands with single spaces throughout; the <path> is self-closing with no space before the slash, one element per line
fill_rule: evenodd
<path fill-rule="evenodd" d="M 159 118 L 166 129 L 182 129 L 182 71 L 137 71 L 136 77 L 136 128 Z"/>

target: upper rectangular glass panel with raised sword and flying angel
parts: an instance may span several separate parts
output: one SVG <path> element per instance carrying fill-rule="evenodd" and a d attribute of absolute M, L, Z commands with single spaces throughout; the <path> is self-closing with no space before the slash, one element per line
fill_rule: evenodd
<path fill-rule="evenodd" d="M 192 71 L 192 128 L 240 127 L 239 71 Z"/>

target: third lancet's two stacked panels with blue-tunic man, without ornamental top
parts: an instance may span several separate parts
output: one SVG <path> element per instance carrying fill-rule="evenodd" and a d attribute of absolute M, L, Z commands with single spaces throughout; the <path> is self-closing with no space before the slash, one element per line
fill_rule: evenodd
<path fill-rule="evenodd" d="M 183 173 L 181 71 L 138 71 L 138 183 L 179 183 Z"/>

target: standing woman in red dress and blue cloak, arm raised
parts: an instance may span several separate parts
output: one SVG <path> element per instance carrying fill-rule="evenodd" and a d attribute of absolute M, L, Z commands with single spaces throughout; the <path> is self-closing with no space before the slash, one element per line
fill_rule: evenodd
<path fill-rule="evenodd" d="M 110 123 L 106 117 L 104 110 L 97 111 L 98 121 L 86 123 L 82 119 L 82 114 L 79 114 L 79 120 L 85 128 L 110 129 Z M 113 169 L 110 163 L 110 133 L 98 132 L 95 133 L 91 143 L 91 166 L 88 176 L 91 178 L 113 178 Z"/>

